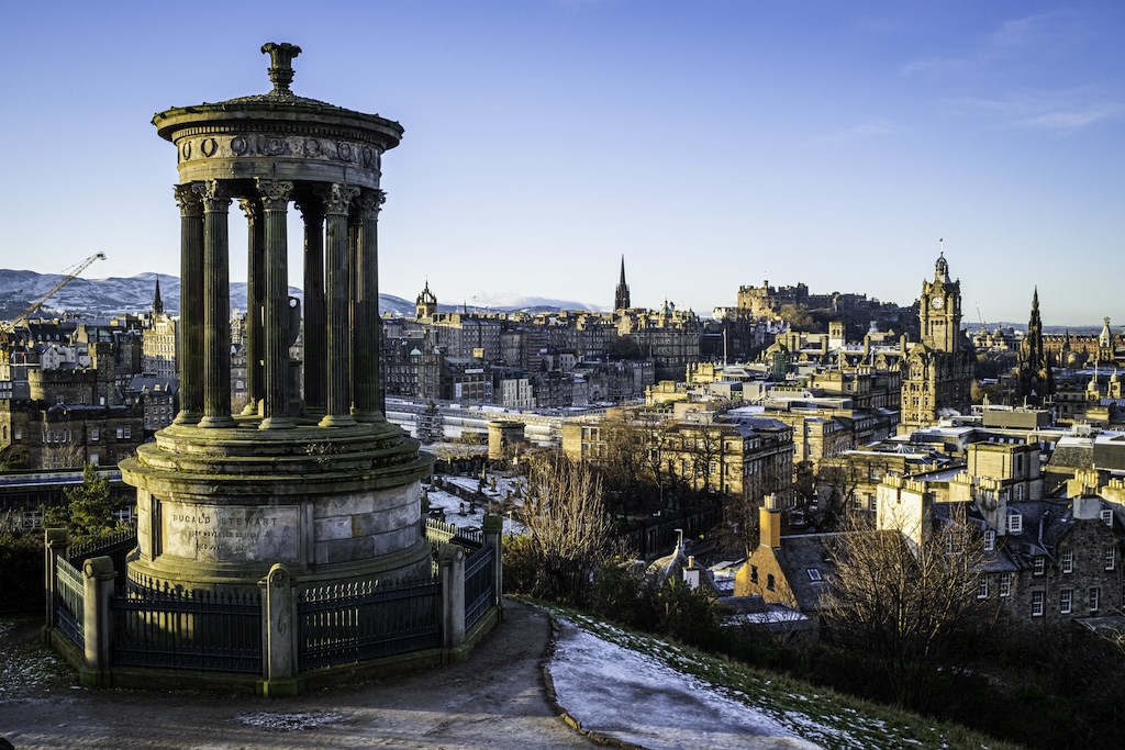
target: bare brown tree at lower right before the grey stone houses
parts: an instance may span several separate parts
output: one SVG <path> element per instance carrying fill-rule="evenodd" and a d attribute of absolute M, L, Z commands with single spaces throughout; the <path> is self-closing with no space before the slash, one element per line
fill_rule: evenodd
<path fill-rule="evenodd" d="M 836 639 L 879 661 L 900 706 L 920 708 L 936 668 L 962 639 L 996 623 L 981 535 L 960 504 L 926 535 L 875 531 L 861 514 L 845 527 L 827 546 L 834 575 L 821 602 L 825 618 Z"/>

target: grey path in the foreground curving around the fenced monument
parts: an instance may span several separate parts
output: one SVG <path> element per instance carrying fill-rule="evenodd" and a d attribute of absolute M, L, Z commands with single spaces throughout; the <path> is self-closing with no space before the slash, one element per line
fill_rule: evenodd
<path fill-rule="evenodd" d="M 38 645 L 38 621 L 0 624 L 0 738 L 17 750 L 596 747 L 546 697 L 548 616 L 519 602 L 468 662 L 298 698 L 87 690 Z"/>

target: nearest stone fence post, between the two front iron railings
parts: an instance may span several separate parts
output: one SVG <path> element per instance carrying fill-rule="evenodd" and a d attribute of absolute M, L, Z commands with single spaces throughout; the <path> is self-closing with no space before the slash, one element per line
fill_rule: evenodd
<path fill-rule="evenodd" d="M 258 582 L 262 589 L 262 645 L 266 650 L 264 696 L 298 695 L 297 597 L 289 570 L 280 562 Z"/>

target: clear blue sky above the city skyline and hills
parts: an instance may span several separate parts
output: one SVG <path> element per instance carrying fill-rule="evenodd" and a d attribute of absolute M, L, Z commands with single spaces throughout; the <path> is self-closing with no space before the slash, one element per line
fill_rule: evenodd
<path fill-rule="evenodd" d="M 1123 35 L 1108 0 L 20 3 L 0 265 L 177 274 L 152 115 L 269 90 L 273 40 L 296 93 L 406 129 L 384 292 L 606 307 L 624 255 L 634 305 L 909 304 L 944 238 L 966 319 L 1024 322 L 1038 284 L 1046 325 L 1125 323 Z"/>

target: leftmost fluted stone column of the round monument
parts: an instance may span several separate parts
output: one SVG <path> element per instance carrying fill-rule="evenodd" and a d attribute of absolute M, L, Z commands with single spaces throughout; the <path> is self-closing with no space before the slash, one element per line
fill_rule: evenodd
<path fill-rule="evenodd" d="M 180 413 L 176 424 L 196 424 L 204 414 L 204 220 L 191 184 L 176 186 L 180 205 Z"/>

